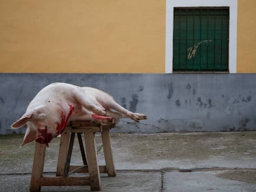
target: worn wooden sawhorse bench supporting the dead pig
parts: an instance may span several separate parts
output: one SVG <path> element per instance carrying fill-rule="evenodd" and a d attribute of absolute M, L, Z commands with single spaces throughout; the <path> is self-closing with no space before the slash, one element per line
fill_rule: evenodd
<path fill-rule="evenodd" d="M 100 173 L 108 173 L 109 177 L 116 177 L 113 152 L 111 149 L 111 138 L 109 130 L 115 124 L 99 125 L 94 122 L 70 122 L 61 134 L 59 144 L 59 157 L 56 177 L 43 176 L 45 164 L 45 144 L 35 144 L 35 156 L 33 161 L 30 192 L 41 190 L 41 186 L 81 186 L 90 185 L 92 191 L 100 191 Z M 95 145 L 95 133 L 100 132 L 106 165 L 98 166 L 97 151 Z M 75 133 L 79 140 L 83 165 L 70 165 Z M 85 150 L 83 148 L 82 136 L 85 138 Z M 88 173 L 89 176 L 69 177 L 70 173 Z"/>

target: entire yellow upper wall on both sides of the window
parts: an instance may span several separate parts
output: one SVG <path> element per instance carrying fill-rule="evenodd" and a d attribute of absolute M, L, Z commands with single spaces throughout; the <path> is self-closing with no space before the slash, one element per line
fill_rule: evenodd
<path fill-rule="evenodd" d="M 0 72 L 164 73 L 165 14 L 166 0 L 0 0 Z M 256 73 L 256 1 L 237 16 L 237 72 Z"/>

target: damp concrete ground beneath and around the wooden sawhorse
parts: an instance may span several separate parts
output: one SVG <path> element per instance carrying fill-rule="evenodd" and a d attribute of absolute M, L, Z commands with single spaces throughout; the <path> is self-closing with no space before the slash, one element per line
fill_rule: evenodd
<path fill-rule="evenodd" d="M 0 191 L 29 191 L 34 143 L 0 136 Z M 256 191 L 256 132 L 111 135 L 117 177 L 101 175 L 101 191 Z M 103 164 L 100 135 L 96 135 Z M 54 173 L 59 138 L 46 149 L 46 173 Z M 71 164 L 81 164 L 75 140 Z M 90 191 L 89 186 L 41 191 Z"/>

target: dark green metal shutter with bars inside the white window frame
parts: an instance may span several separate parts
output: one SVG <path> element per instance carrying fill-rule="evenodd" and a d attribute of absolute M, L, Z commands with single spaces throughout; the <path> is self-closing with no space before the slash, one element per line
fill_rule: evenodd
<path fill-rule="evenodd" d="M 228 7 L 174 8 L 174 72 L 228 72 L 228 44 Z"/>

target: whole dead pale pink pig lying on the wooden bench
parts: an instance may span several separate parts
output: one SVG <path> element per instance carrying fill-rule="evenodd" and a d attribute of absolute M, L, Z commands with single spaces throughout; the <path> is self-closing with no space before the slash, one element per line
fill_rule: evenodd
<path fill-rule="evenodd" d="M 33 140 L 48 146 L 70 121 L 93 120 L 106 124 L 121 118 L 139 122 L 147 119 L 147 115 L 124 109 L 108 93 L 95 88 L 52 83 L 36 94 L 12 128 L 27 127 L 21 146 Z"/>

